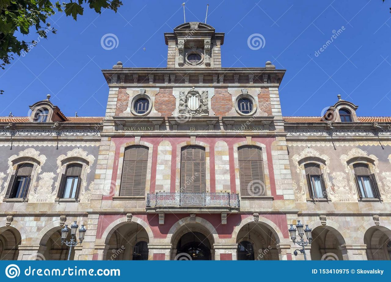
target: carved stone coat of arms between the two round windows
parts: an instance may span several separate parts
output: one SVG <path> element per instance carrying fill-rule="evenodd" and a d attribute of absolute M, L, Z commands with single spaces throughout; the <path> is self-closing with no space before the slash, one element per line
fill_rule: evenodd
<path fill-rule="evenodd" d="M 185 91 L 179 92 L 179 115 L 209 115 L 208 100 L 208 91 L 200 94 L 194 87 L 187 94 Z"/>

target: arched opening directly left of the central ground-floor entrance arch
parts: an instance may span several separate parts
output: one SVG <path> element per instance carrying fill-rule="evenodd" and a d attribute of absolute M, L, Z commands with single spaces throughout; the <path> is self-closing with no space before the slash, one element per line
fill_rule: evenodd
<path fill-rule="evenodd" d="M 106 260 L 148 260 L 149 238 L 144 227 L 135 222 L 114 228 L 108 235 Z"/>

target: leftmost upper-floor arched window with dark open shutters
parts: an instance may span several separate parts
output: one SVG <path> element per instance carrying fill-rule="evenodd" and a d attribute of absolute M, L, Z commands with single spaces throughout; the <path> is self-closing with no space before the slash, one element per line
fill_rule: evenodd
<path fill-rule="evenodd" d="M 9 180 L 5 198 L 23 198 L 27 197 L 31 183 L 32 168 L 31 163 L 22 163 L 16 169 L 16 173 Z"/>

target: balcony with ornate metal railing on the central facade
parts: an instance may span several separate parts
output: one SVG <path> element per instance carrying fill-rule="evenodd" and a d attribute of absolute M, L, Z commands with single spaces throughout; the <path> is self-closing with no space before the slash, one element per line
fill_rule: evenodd
<path fill-rule="evenodd" d="M 239 211 L 239 195 L 230 193 L 155 193 L 147 195 L 147 211 Z"/>

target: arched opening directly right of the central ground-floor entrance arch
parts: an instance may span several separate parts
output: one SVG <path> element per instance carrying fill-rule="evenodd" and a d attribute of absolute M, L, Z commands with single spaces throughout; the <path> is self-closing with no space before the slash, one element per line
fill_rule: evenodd
<path fill-rule="evenodd" d="M 278 238 L 274 232 L 261 222 L 244 225 L 237 236 L 237 260 L 279 260 Z"/>

